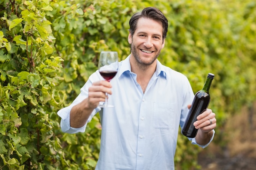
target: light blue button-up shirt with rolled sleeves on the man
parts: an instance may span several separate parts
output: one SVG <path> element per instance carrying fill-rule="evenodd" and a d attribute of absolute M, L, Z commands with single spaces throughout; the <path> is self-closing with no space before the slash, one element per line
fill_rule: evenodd
<path fill-rule="evenodd" d="M 119 62 L 119 71 L 110 81 L 108 102 L 115 107 L 97 107 L 88 119 L 99 112 L 102 131 L 96 170 L 174 170 L 179 126 L 183 126 L 187 105 L 194 97 L 191 85 L 183 74 L 157 60 L 156 71 L 143 93 L 129 58 Z M 85 131 L 86 124 L 70 127 L 70 110 L 88 97 L 88 88 L 100 79 L 99 71 L 93 73 L 74 102 L 58 111 L 63 132 Z M 196 144 L 194 138 L 189 140 Z"/>

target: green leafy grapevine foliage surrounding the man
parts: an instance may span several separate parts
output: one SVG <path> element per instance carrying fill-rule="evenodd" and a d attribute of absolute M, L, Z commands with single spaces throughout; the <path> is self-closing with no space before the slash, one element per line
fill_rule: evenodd
<path fill-rule="evenodd" d="M 0 0 L 0 169 L 92 170 L 101 126 L 60 130 L 56 112 L 68 106 L 97 67 L 102 50 L 130 53 L 129 19 L 144 7 L 166 15 L 169 28 L 159 60 L 185 74 L 199 91 L 216 75 L 210 108 L 225 145 L 225 122 L 255 101 L 254 0 Z M 200 169 L 197 146 L 179 135 L 176 169 Z"/>

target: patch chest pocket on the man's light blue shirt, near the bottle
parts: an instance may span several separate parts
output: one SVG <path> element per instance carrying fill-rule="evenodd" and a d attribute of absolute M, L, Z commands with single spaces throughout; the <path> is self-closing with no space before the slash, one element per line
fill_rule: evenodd
<path fill-rule="evenodd" d="M 174 103 L 154 102 L 153 127 L 157 129 L 170 129 L 174 120 Z"/>

